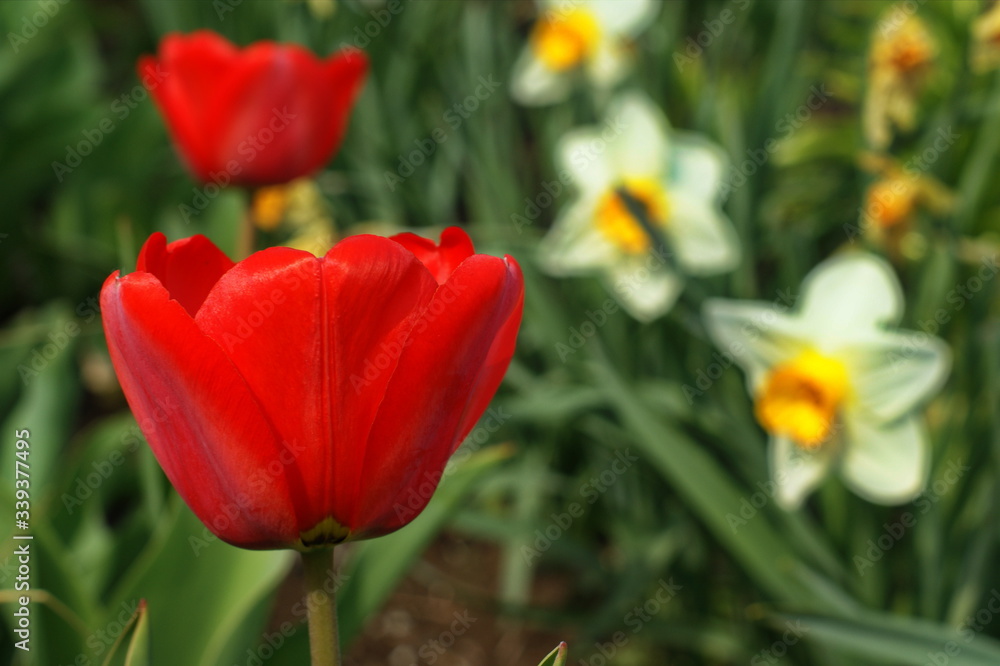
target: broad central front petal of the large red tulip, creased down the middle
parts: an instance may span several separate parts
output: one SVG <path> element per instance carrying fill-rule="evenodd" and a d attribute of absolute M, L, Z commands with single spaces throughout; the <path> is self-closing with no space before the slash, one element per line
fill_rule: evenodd
<path fill-rule="evenodd" d="M 281 436 L 310 447 L 296 461 L 308 494 L 300 531 L 327 516 L 353 526 L 369 429 L 435 287 L 398 244 L 353 236 L 322 259 L 258 252 L 199 310 L 198 325 L 227 351 Z"/>

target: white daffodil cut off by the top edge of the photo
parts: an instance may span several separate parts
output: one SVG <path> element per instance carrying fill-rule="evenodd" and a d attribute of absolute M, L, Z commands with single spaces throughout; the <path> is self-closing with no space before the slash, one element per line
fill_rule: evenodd
<path fill-rule="evenodd" d="M 653 0 L 541 0 L 541 16 L 514 64 L 511 94 L 525 105 L 565 99 L 578 72 L 596 87 L 619 81 L 629 41 L 656 14 Z"/>

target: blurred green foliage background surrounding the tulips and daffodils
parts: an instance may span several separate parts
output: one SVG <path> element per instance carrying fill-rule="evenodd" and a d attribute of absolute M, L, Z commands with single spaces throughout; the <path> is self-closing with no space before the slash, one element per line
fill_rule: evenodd
<path fill-rule="evenodd" d="M 899 271 L 906 327 L 920 328 L 941 308 L 951 315 L 938 334 L 955 353 L 954 369 L 927 410 L 931 480 L 950 478 L 956 465 L 967 471 L 895 508 L 868 504 L 831 479 L 796 513 L 767 497 L 766 437 L 741 372 L 727 369 L 692 400 L 684 390 L 717 359 L 699 317 L 701 296 L 685 294 L 648 325 L 612 315 L 573 353 L 560 353 L 607 298 L 597 279 L 550 279 L 534 263 L 539 238 L 572 194 L 557 196 L 529 225 L 512 216 L 557 179 L 559 138 L 600 117 L 582 90 L 552 107 L 511 102 L 506 84 L 535 15 L 531 3 L 412 0 L 380 26 L 372 12 L 381 4 L 351 0 L 336 3 L 330 18 L 283 0 L 230 0 L 223 8 L 232 11 L 221 15 L 218 2 L 70 0 L 54 3 L 55 15 L 15 51 L 9 35 L 26 34 L 25 18 L 43 4 L 0 2 L 7 36 L 0 44 L 0 616 L 7 626 L 0 661 L 103 663 L 111 646 L 100 632 L 122 613 L 130 617 L 139 598 L 148 616 L 125 640 L 135 635 L 140 645 L 148 632 L 152 663 L 244 663 L 260 644 L 294 558 L 220 543 L 193 548 L 204 529 L 169 488 L 108 375 L 93 300 L 105 277 L 131 270 L 155 230 L 171 239 L 204 233 L 232 252 L 246 207 L 242 193 L 228 191 L 185 222 L 178 206 L 197 186 L 154 106 L 139 99 L 134 64 L 174 30 L 211 28 L 240 44 L 300 42 L 326 55 L 374 25 L 377 34 L 362 44 L 371 76 L 344 147 L 320 178 L 339 230 L 377 222 L 436 233 L 463 225 L 480 251 L 520 260 L 527 297 L 517 356 L 494 402 L 509 419 L 413 525 L 348 554 L 340 595 L 347 638 L 447 529 L 496 544 L 497 612 L 563 635 L 571 663 L 598 663 L 588 661 L 599 654 L 595 642 L 619 631 L 629 635 L 613 661 L 620 664 L 1000 663 L 1000 622 L 989 609 L 1000 594 L 997 285 L 987 281 L 960 309 L 948 301 L 1000 243 L 1000 75 L 974 74 L 966 64 L 970 23 L 985 3 L 919 3 L 940 45 L 938 68 L 918 128 L 892 146 L 905 162 L 940 130 L 958 135 L 928 172 L 956 193 L 957 206 L 918 219 L 920 242 Z M 717 141 L 734 163 L 769 139 L 783 140 L 725 205 L 743 263 L 698 285 L 703 295 L 772 300 L 794 293 L 845 244 L 868 244 L 852 240 L 845 225 L 857 223 L 870 179 L 858 164 L 866 52 L 889 5 L 744 5 L 662 3 L 636 44 L 627 85 L 650 95 L 675 127 Z M 690 62 L 675 61 L 675 53 L 693 53 L 689 38 L 726 9 L 735 23 Z M 491 75 L 503 85 L 452 128 L 444 113 Z M 829 101 L 786 131 L 782 119 L 820 85 Z M 104 120 L 113 131 L 101 133 L 79 166 L 57 174 L 53 162 L 67 162 L 67 150 Z M 435 128 L 447 140 L 390 189 L 386 172 Z M 59 352 L 36 360 L 49 344 Z M 16 606 L 6 603 L 16 572 L 13 433 L 25 427 L 32 586 L 47 593 L 32 606 L 30 659 L 13 648 L 8 610 Z M 553 514 L 578 501 L 623 450 L 640 462 L 545 545 L 539 534 L 556 524 Z M 94 473 L 101 480 L 83 497 L 80 484 Z M 68 507 L 66 497 L 80 502 Z M 914 526 L 879 549 L 871 566 L 859 566 L 870 542 L 892 533 L 907 512 Z M 532 581 L 555 574 L 571 581 L 568 597 L 556 606 L 533 603 Z M 664 580 L 682 589 L 633 634 L 629 613 Z M 794 644 L 789 622 L 802 628 Z M 298 631 L 268 663 L 304 663 L 304 639 Z M 78 655 L 85 661 L 75 662 Z M 531 663 L 543 656 L 531 655 Z"/>

